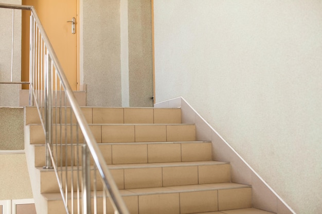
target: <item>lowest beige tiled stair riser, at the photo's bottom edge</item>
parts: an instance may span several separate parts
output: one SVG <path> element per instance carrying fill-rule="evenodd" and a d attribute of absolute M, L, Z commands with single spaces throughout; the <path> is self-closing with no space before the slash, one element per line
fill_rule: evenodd
<path fill-rule="evenodd" d="M 213 212 L 227 209 L 249 208 L 252 206 L 252 189 L 220 189 L 194 192 L 176 192 L 166 194 L 146 194 L 139 196 L 123 197 L 131 214 L 174 213 L 188 214 L 197 212 Z M 98 213 L 103 213 L 101 204 L 97 200 Z M 76 204 L 76 200 L 74 200 Z M 108 212 L 113 214 L 112 206 Z M 69 200 L 70 204 L 70 200 Z M 93 210 L 92 199 L 92 210 Z M 48 214 L 63 213 L 61 201 L 48 202 Z M 76 209 L 74 209 L 76 210 Z"/>

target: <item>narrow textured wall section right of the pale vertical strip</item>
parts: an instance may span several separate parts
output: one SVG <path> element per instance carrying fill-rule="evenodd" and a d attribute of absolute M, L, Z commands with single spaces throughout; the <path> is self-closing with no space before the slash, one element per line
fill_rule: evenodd
<path fill-rule="evenodd" d="M 130 106 L 153 106 L 151 0 L 129 0 Z"/>

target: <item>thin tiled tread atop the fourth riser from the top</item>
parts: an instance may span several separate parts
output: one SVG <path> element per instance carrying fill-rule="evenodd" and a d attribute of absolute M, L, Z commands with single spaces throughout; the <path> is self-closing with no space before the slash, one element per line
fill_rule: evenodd
<path fill-rule="evenodd" d="M 180 166 L 209 166 L 229 164 L 229 162 L 222 161 L 191 161 L 191 162 L 168 162 L 168 163 L 142 163 L 142 164 L 109 164 L 109 169 L 134 169 L 134 168 L 155 168 L 155 167 L 180 167 Z M 74 168 L 77 166 L 73 166 Z M 79 166 L 81 167 L 81 166 Z M 43 167 L 36 167 L 40 171 L 53 171 L 54 169 L 44 169 Z M 63 166 L 63 169 L 66 167 Z M 94 166 L 92 166 L 92 169 Z M 71 166 L 67 166 L 67 170 L 71 170 Z"/>

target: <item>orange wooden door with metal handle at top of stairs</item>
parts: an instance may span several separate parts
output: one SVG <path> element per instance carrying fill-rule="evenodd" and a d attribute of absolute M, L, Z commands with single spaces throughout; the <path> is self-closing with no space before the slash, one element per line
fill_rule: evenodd
<path fill-rule="evenodd" d="M 23 5 L 32 5 L 36 9 L 71 89 L 78 90 L 77 0 L 23 0 Z M 22 79 L 24 81 L 29 81 L 29 35 L 24 33 L 29 32 L 26 31 L 29 29 L 29 15 L 29 11 L 23 13 Z M 68 22 L 73 17 L 76 18 L 75 34 L 71 32 L 71 22 Z"/>

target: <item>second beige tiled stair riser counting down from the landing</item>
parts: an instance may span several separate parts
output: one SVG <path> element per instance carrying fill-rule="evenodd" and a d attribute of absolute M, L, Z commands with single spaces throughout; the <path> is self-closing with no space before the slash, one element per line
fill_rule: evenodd
<path fill-rule="evenodd" d="M 45 135 L 40 124 L 28 126 L 30 144 L 44 144 Z M 98 143 L 195 141 L 194 124 L 94 124 L 90 125 Z M 77 134 L 78 130 L 78 134 Z M 67 133 L 66 133 L 67 132 Z M 83 136 L 76 125 L 52 128 L 53 142 L 82 142 Z"/>

